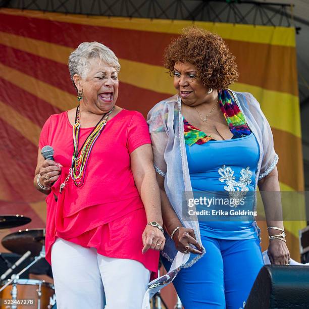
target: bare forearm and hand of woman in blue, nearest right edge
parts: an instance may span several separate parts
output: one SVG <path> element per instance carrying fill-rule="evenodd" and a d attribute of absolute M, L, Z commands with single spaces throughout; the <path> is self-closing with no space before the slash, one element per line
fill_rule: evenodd
<path fill-rule="evenodd" d="M 262 178 L 258 182 L 258 186 L 260 191 L 270 192 L 268 194 L 263 194 L 263 192 L 261 192 L 267 226 L 275 226 L 284 229 L 277 167 L 275 167 L 269 175 Z M 270 236 L 273 236 L 281 234 L 281 231 L 269 229 L 268 233 Z M 286 243 L 280 239 L 270 240 L 268 255 L 272 264 L 285 265 L 290 259 L 290 253 Z"/>

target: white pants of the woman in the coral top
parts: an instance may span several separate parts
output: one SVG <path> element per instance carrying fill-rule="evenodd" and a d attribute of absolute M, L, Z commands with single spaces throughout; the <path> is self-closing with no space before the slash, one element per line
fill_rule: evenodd
<path fill-rule="evenodd" d="M 140 263 L 100 255 L 58 238 L 52 248 L 57 309 L 139 309 L 150 272 Z"/>

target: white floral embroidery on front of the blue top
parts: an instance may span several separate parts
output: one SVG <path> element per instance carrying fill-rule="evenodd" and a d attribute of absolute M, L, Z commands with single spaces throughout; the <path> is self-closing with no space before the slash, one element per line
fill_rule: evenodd
<path fill-rule="evenodd" d="M 234 171 L 225 165 L 218 170 L 218 173 L 222 176 L 219 180 L 221 182 L 225 181 L 226 186 L 224 186 L 224 190 L 229 192 L 230 198 L 241 199 L 246 195 L 246 192 L 249 191 L 247 185 L 252 182 L 252 172 L 249 170 L 249 167 L 241 169 L 239 181 L 235 181 L 236 177 L 234 176 Z M 235 205 L 231 205 L 231 207 L 236 208 L 239 203 L 235 202 L 234 204 Z"/>

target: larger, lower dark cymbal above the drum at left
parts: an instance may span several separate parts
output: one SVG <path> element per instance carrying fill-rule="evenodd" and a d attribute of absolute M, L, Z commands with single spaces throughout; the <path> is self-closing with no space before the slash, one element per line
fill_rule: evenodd
<path fill-rule="evenodd" d="M 31 256 L 39 255 L 45 240 L 45 229 L 26 229 L 5 236 L 1 243 L 8 250 L 24 254 L 28 250 Z"/>

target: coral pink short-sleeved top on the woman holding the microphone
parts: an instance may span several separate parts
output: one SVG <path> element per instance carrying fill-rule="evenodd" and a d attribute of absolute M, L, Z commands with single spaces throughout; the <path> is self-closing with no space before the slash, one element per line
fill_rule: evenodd
<path fill-rule="evenodd" d="M 93 128 L 81 128 L 79 147 Z M 144 205 L 130 169 L 130 153 L 151 143 L 143 116 L 122 110 L 107 122 L 92 147 L 84 183 L 77 187 L 69 179 L 73 154 L 72 125 L 67 112 L 52 115 L 45 122 L 39 147 L 55 149 L 54 159 L 63 168 L 60 177 L 46 197 L 46 260 L 57 237 L 84 247 L 94 247 L 110 258 L 141 262 L 152 272 L 158 270 L 159 252 L 141 253 L 142 233 L 147 224 Z"/>

